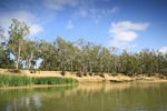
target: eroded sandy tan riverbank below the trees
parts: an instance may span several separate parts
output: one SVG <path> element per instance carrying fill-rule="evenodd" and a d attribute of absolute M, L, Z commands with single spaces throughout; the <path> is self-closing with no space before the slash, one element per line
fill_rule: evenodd
<path fill-rule="evenodd" d="M 0 69 L 0 73 L 16 74 L 11 73 L 8 69 Z M 167 81 L 167 75 L 161 74 L 153 74 L 150 77 L 146 74 L 138 74 L 136 77 L 128 77 L 121 73 L 117 75 L 111 75 L 109 73 L 105 73 L 104 77 L 100 75 L 76 75 L 77 72 L 66 72 L 65 75 L 61 74 L 61 71 L 29 71 L 29 70 L 20 70 L 19 74 L 41 78 L 41 77 L 58 77 L 58 78 L 72 78 L 78 80 L 79 82 L 130 82 L 130 81 Z"/>

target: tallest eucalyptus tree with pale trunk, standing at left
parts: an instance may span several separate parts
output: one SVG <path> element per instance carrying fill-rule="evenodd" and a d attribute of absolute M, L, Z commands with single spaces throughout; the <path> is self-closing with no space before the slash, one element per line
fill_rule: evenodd
<path fill-rule="evenodd" d="M 12 19 L 9 27 L 9 48 L 14 56 L 16 69 L 19 69 L 22 43 L 29 33 L 30 27 L 27 23 Z"/>

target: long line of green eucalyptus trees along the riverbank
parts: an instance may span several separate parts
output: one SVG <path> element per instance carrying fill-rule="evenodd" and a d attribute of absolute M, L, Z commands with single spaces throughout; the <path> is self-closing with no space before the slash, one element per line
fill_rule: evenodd
<path fill-rule="evenodd" d="M 82 39 L 77 42 L 57 37 L 53 42 L 29 40 L 30 27 L 16 19 L 9 28 L 9 38 L 4 38 L 0 28 L 0 68 L 36 69 L 41 60 L 40 70 L 76 71 L 79 74 L 125 73 L 151 74 L 167 73 L 167 53 L 144 49 L 131 53 L 117 48 L 106 48 Z M 13 59 L 11 59 L 13 57 Z"/>

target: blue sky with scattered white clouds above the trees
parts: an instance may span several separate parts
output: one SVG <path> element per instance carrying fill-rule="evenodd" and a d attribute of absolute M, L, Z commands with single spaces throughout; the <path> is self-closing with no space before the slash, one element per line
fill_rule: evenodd
<path fill-rule="evenodd" d="M 167 0 L 0 0 L 0 26 L 31 27 L 29 38 L 84 39 L 104 47 L 167 53 Z"/>

